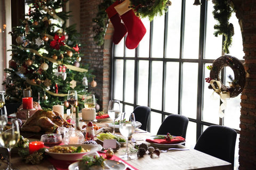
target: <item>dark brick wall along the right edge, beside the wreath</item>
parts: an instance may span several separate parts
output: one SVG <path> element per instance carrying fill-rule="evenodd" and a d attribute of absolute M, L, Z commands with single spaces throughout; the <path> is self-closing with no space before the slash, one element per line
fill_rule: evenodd
<path fill-rule="evenodd" d="M 256 167 L 256 2 L 233 1 L 241 20 L 246 84 L 241 96 L 239 169 Z"/>

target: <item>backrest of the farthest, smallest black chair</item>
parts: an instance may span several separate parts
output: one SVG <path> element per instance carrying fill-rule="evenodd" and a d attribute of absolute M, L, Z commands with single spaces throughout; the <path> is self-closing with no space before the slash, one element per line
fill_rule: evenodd
<path fill-rule="evenodd" d="M 133 111 L 135 115 L 135 120 L 142 124 L 140 126 L 140 129 L 142 130 L 147 130 L 148 117 L 150 115 L 150 111 L 151 109 L 147 106 L 137 106 Z"/>

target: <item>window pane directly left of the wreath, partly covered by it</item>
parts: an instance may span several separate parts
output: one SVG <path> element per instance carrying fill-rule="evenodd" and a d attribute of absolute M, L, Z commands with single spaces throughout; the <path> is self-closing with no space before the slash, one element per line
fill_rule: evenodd
<path fill-rule="evenodd" d="M 210 70 L 206 66 L 212 65 L 212 63 L 206 63 L 204 66 L 204 96 L 203 96 L 203 112 L 202 120 L 205 122 L 219 124 L 219 108 L 220 97 L 213 89 L 209 89 L 210 83 L 205 81 L 205 78 L 210 77 Z"/>

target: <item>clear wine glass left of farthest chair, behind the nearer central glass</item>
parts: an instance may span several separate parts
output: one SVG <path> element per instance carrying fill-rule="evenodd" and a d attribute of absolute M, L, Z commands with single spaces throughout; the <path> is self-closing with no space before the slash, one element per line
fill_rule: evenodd
<path fill-rule="evenodd" d="M 110 100 L 108 104 L 108 115 L 111 119 L 114 120 L 113 124 L 113 134 L 115 134 L 115 121 L 121 115 L 120 111 L 120 101 L 119 100 Z"/>

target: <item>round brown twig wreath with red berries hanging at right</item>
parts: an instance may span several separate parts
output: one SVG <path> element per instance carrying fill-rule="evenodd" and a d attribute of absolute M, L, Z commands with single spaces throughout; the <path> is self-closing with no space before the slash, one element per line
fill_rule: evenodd
<path fill-rule="evenodd" d="M 223 67 L 229 66 L 233 72 L 235 78 L 233 79 L 231 75 L 229 75 L 230 87 L 225 86 L 219 77 L 220 71 Z M 233 98 L 241 94 L 245 86 L 245 70 L 243 63 L 239 61 L 236 57 L 225 55 L 217 58 L 212 66 L 207 66 L 210 71 L 210 80 L 217 80 L 221 82 L 221 91 L 229 92 L 229 97 Z M 206 80 L 206 82 L 209 80 Z M 214 84 L 215 85 L 215 84 Z M 212 86 L 209 86 L 209 89 L 213 89 Z"/>

